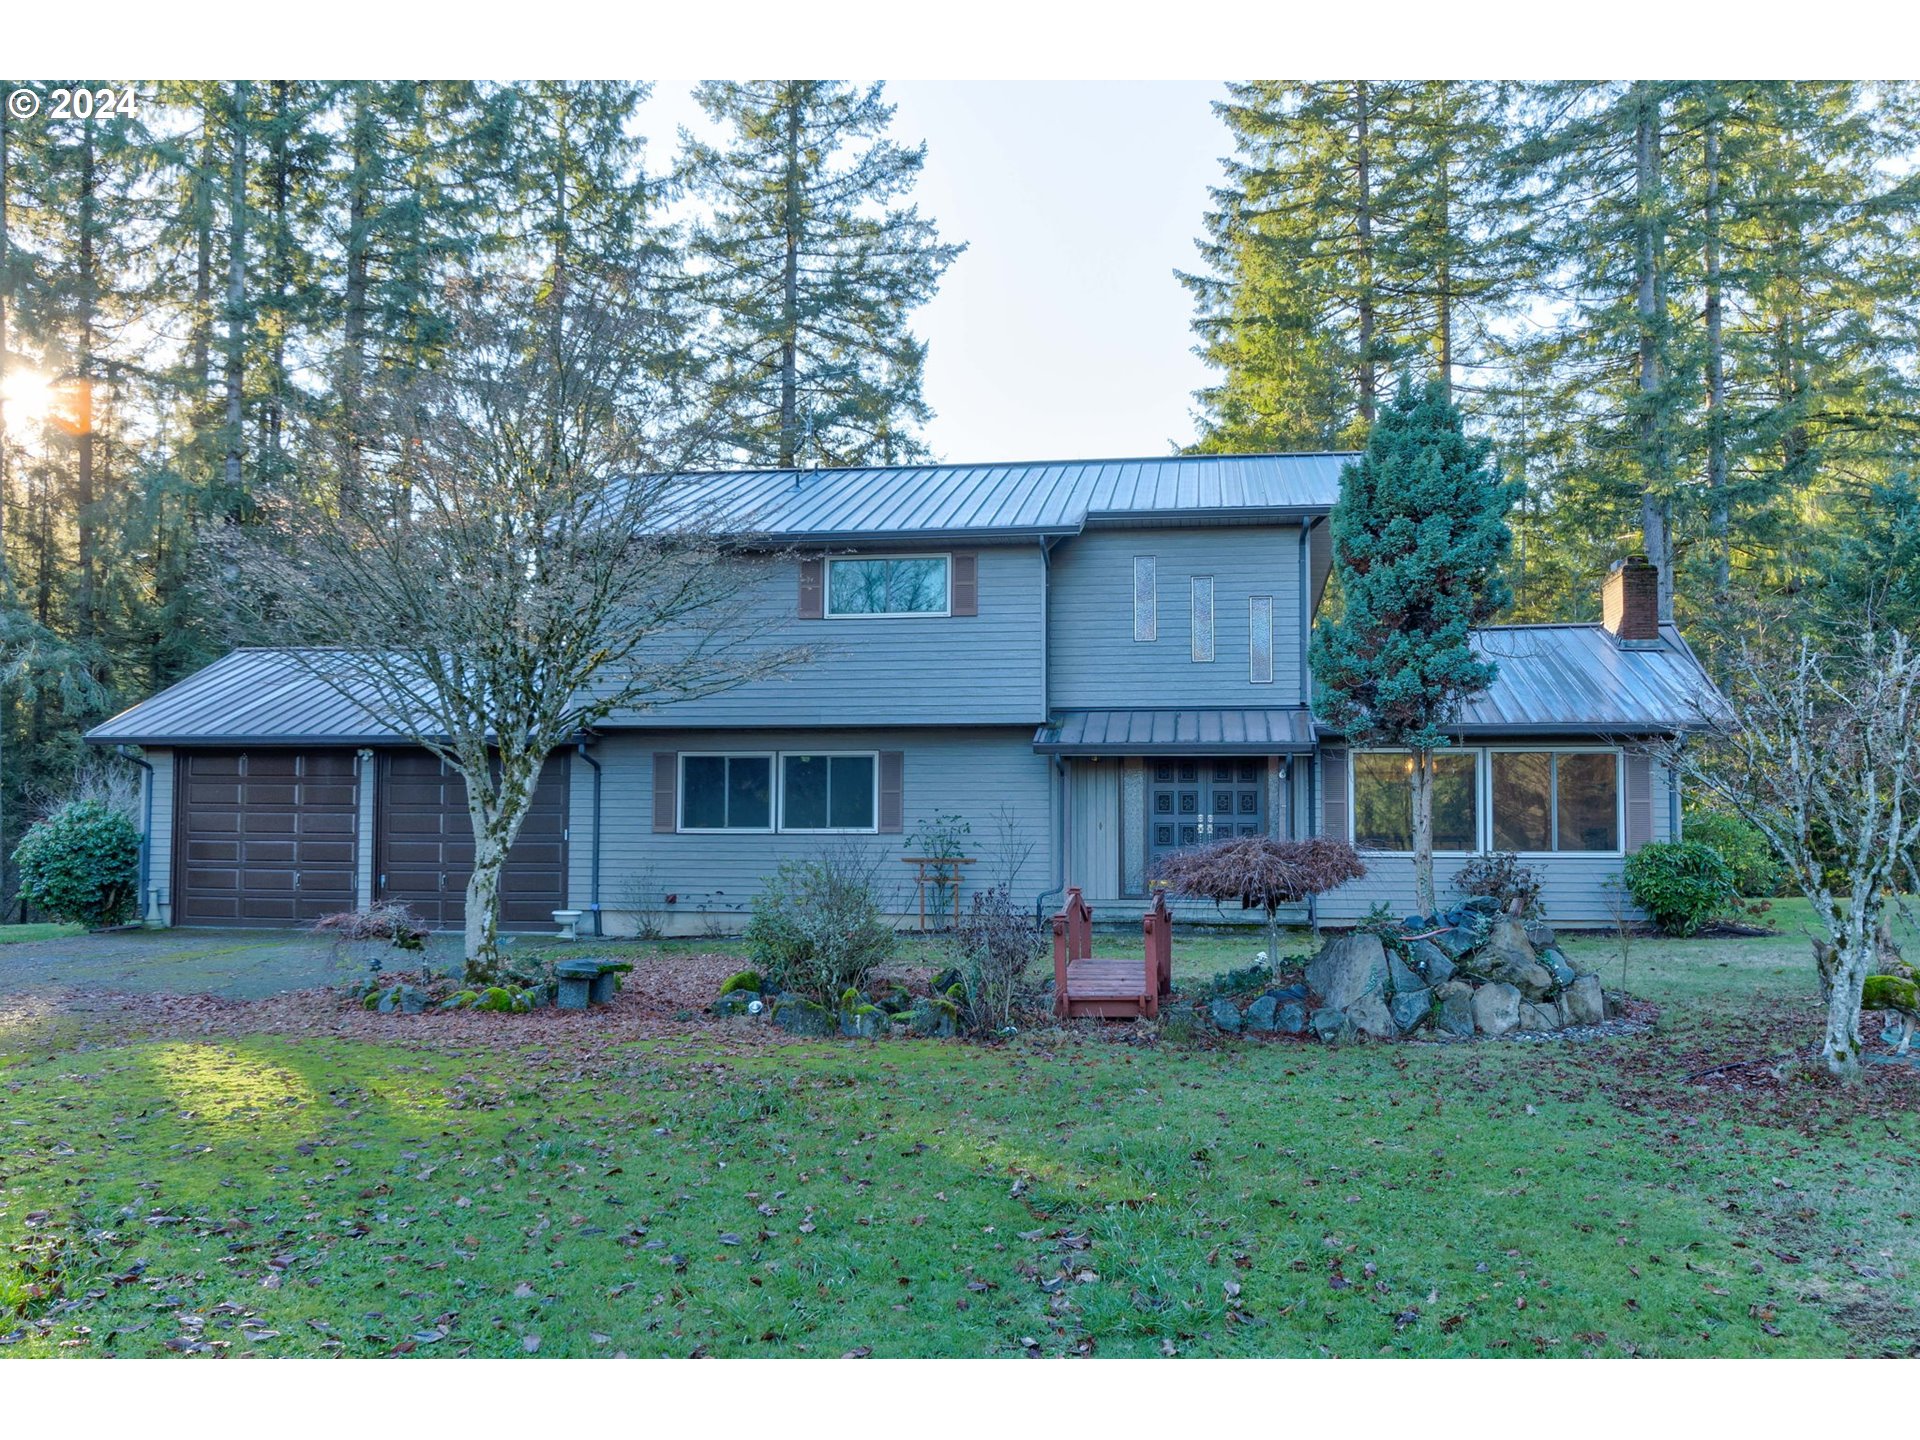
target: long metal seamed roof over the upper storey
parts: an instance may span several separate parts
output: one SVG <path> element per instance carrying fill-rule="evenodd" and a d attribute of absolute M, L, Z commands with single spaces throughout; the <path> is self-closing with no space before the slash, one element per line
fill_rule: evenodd
<path fill-rule="evenodd" d="M 1077 534 L 1102 520 L 1323 515 L 1346 453 L 714 470 L 672 476 L 668 515 L 778 540 Z"/>

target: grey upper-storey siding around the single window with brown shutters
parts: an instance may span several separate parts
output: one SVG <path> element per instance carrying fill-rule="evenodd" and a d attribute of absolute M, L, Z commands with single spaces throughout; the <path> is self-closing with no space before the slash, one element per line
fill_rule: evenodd
<path fill-rule="evenodd" d="M 1046 718 L 1041 549 L 968 553 L 977 555 L 977 614 L 952 616 L 801 620 L 801 561 L 772 563 L 747 595 L 749 624 L 764 626 L 755 643 L 808 645 L 812 662 L 722 695 L 620 716 L 620 724 L 1039 724 Z M 1123 595 L 1121 611 L 1125 603 Z"/>

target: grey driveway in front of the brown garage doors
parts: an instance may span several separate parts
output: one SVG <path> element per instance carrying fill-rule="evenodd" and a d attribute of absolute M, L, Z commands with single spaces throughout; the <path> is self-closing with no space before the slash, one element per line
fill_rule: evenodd
<path fill-rule="evenodd" d="M 428 941 L 436 964 L 453 966 L 459 952 L 457 935 Z M 411 968 L 415 960 L 394 952 L 390 964 Z M 355 973 L 330 941 L 286 929 L 127 929 L 0 945 L 0 995 L 77 989 L 259 1000 Z"/>

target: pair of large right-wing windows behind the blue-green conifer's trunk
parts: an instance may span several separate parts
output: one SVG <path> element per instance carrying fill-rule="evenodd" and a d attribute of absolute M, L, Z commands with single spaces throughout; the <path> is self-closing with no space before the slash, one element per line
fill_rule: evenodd
<path fill-rule="evenodd" d="M 1356 751 L 1352 839 L 1363 851 L 1413 849 L 1413 756 Z M 1620 753 L 1469 749 L 1434 755 L 1434 852 L 1620 852 Z"/>

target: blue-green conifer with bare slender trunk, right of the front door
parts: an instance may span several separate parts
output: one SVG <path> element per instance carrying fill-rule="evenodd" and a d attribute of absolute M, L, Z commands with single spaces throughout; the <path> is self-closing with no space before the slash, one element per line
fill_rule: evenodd
<path fill-rule="evenodd" d="M 1513 543 L 1517 488 L 1465 432 L 1442 382 L 1402 378 L 1340 472 L 1332 513 L 1338 618 L 1309 645 L 1313 712 L 1356 745 L 1411 753 L 1413 889 L 1434 912 L 1434 753 L 1452 741 L 1461 705 L 1494 684 L 1496 666 L 1469 645 L 1473 626 L 1507 605 L 1500 574 Z"/>

